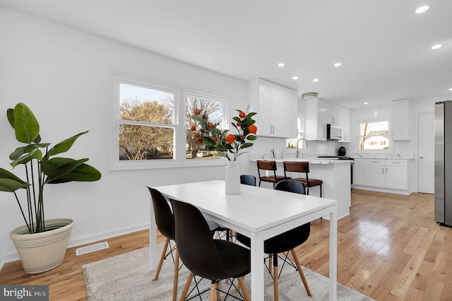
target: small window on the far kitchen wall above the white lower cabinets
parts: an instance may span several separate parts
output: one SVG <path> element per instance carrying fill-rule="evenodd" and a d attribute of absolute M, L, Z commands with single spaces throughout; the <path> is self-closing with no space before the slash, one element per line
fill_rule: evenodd
<path fill-rule="evenodd" d="M 359 123 L 359 150 L 388 150 L 389 148 L 389 122 Z"/>

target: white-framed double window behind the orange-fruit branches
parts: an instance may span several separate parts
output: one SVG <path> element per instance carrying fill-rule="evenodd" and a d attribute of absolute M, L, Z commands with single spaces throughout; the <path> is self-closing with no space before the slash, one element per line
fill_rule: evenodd
<path fill-rule="evenodd" d="M 195 109 L 208 112 L 209 119 L 227 129 L 227 99 L 208 93 L 115 76 L 116 126 L 112 148 L 112 170 L 177 167 L 208 163 L 222 158 L 197 146 L 191 125 Z"/>

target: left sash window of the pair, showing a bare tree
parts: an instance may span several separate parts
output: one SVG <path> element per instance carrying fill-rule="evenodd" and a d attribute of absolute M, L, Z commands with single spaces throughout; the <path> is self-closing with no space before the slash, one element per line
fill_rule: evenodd
<path fill-rule="evenodd" d="M 174 159 L 175 94 L 119 83 L 119 160 Z"/>

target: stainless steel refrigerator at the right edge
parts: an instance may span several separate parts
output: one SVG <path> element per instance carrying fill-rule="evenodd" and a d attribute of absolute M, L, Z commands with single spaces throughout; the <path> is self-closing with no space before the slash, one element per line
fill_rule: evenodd
<path fill-rule="evenodd" d="M 435 220 L 452 226 L 451 100 L 435 104 Z"/>

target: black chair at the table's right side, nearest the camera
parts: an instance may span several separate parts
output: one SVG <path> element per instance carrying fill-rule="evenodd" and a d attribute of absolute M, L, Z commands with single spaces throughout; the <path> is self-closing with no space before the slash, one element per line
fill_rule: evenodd
<path fill-rule="evenodd" d="M 293 181 L 290 179 L 281 180 L 275 185 L 275 189 L 282 191 L 289 191 L 296 194 L 305 194 L 304 184 L 302 182 Z M 311 223 L 306 223 L 301 225 L 295 229 L 284 232 L 275 237 L 271 237 L 264 242 L 264 252 L 266 254 L 270 254 L 270 262 L 268 264 L 268 271 L 271 273 L 270 266 L 272 266 L 273 259 L 273 289 L 275 300 L 279 300 L 279 291 L 278 291 L 278 282 L 279 282 L 279 274 L 278 274 L 278 253 L 286 253 L 283 258 L 284 261 L 288 261 L 287 252 L 291 252 L 295 264 L 290 263 L 292 266 L 297 268 L 299 276 L 302 278 L 302 282 L 304 284 L 304 288 L 306 289 L 307 294 L 311 297 L 311 290 L 309 290 L 309 285 L 306 281 L 306 277 L 304 277 L 304 273 L 302 270 L 302 266 L 299 264 L 299 260 L 297 257 L 297 253 L 295 252 L 295 247 L 303 244 L 307 241 L 309 234 L 311 232 Z M 235 237 L 237 241 L 249 247 L 251 245 L 251 240 L 249 237 L 246 237 L 240 233 L 235 233 Z"/>

